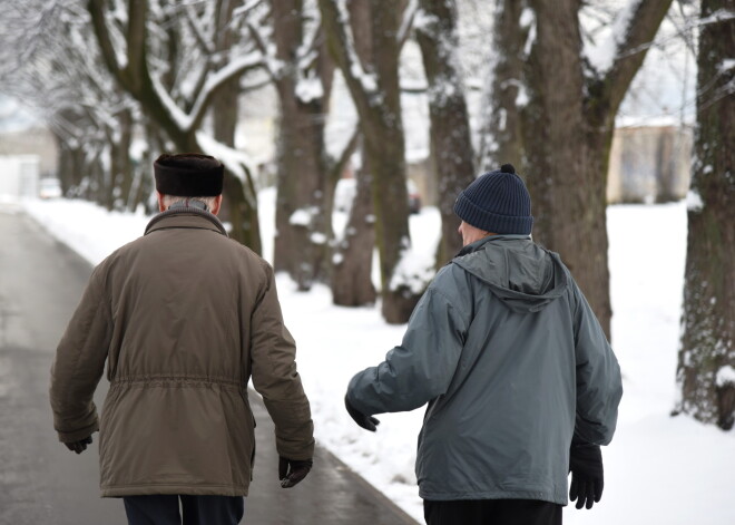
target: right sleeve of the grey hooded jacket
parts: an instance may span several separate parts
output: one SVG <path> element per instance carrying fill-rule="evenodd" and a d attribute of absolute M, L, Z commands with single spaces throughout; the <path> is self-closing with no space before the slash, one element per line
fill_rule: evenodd
<path fill-rule="evenodd" d="M 623 397 L 620 367 L 592 309 L 572 281 L 577 364 L 576 443 L 607 445 Z"/>

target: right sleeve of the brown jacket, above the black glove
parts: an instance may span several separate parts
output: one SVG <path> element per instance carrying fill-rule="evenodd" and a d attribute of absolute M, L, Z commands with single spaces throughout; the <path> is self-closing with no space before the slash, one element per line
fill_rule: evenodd
<path fill-rule="evenodd" d="M 288 459 L 314 456 L 314 424 L 308 399 L 296 370 L 296 343 L 281 313 L 273 269 L 251 319 L 253 386 L 275 425 L 276 450 Z"/>

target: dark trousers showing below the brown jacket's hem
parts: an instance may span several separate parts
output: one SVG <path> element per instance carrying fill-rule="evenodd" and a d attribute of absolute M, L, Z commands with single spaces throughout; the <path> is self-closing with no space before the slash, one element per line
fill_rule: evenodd
<path fill-rule="evenodd" d="M 245 512 L 242 496 L 157 494 L 126 496 L 122 500 L 129 525 L 237 525 Z"/>

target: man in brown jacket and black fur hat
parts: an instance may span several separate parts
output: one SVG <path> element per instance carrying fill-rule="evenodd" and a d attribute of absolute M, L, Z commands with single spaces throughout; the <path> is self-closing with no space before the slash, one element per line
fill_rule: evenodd
<path fill-rule="evenodd" d="M 312 466 L 313 424 L 271 266 L 216 217 L 223 165 L 154 164 L 161 213 L 92 272 L 57 349 L 50 398 L 77 454 L 99 429 L 102 497 L 130 524 L 236 524 L 255 457 L 253 378 L 275 422 L 281 486 Z M 107 361 L 101 419 L 92 395 Z"/>

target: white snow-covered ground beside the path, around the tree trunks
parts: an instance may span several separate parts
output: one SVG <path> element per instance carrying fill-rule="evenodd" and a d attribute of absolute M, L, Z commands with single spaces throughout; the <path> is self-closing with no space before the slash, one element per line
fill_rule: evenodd
<path fill-rule="evenodd" d="M 273 246 L 273 192 L 261 196 L 266 257 Z M 148 221 L 141 214 L 107 213 L 79 201 L 29 201 L 24 207 L 91 263 L 139 236 Z M 412 216 L 414 244 L 431 247 L 438 224 L 433 208 Z M 602 500 L 591 511 L 566 507 L 565 522 L 735 523 L 735 432 L 669 417 L 676 390 L 685 205 L 612 206 L 608 231 L 612 341 L 625 395 L 617 435 L 604 450 Z M 400 343 L 403 327 L 385 324 L 376 308 L 333 307 L 324 286 L 298 293 L 283 275 L 278 293 L 286 324 L 298 343 L 298 369 L 318 443 L 423 523 L 413 474 L 422 410 L 379 416 L 379 431 L 371 434 L 354 425 L 343 408 L 352 375 L 380 362 Z"/>

